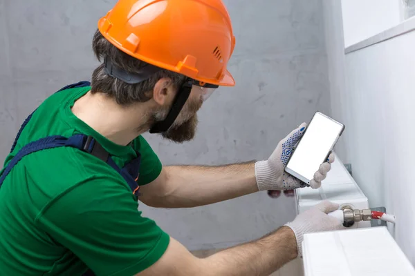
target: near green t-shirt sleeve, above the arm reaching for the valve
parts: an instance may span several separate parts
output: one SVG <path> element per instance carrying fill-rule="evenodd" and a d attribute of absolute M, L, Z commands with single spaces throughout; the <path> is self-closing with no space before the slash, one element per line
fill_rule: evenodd
<path fill-rule="evenodd" d="M 131 190 L 115 178 L 78 184 L 48 204 L 36 223 L 98 276 L 139 273 L 169 244 L 169 235 L 142 217 Z"/>

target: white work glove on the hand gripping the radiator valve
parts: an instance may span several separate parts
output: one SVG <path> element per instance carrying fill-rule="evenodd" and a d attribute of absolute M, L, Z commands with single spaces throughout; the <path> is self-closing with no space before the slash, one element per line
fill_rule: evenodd
<path fill-rule="evenodd" d="M 302 241 L 305 233 L 344 229 L 342 222 L 335 217 L 326 215 L 338 210 L 339 205 L 324 200 L 304 213 L 297 215 L 294 221 L 285 226 L 291 228 L 297 239 L 298 257 L 302 256 Z"/>

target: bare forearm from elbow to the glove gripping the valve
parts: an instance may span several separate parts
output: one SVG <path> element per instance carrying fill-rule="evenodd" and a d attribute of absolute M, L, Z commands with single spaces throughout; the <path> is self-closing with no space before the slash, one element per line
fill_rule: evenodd
<path fill-rule="evenodd" d="M 279 228 L 255 242 L 228 248 L 205 259 L 207 275 L 270 275 L 297 257 L 297 242 L 291 228 Z"/>

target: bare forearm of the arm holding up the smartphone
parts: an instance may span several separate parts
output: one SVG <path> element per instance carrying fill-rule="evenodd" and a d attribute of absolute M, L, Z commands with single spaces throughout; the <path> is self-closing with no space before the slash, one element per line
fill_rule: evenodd
<path fill-rule="evenodd" d="M 258 191 L 255 163 L 226 166 L 167 166 L 163 205 L 183 208 L 212 204 Z"/>

